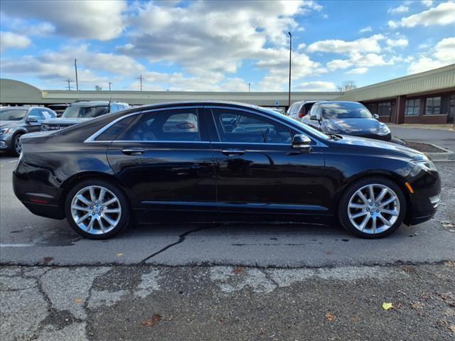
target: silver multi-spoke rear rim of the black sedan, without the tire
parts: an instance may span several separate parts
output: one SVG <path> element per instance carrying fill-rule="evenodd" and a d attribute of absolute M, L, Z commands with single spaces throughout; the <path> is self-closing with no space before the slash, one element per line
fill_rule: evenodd
<path fill-rule="evenodd" d="M 71 216 L 82 231 L 105 234 L 119 223 L 122 206 L 117 196 L 107 188 L 88 186 L 73 197 Z"/>

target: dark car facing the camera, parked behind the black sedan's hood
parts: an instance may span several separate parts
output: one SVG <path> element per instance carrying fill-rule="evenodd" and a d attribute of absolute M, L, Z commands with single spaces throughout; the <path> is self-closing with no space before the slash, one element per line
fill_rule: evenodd
<path fill-rule="evenodd" d="M 392 135 L 386 124 L 378 121 L 358 102 L 319 102 L 311 107 L 302 123 L 326 134 L 341 134 L 382 141 L 390 141 Z"/>

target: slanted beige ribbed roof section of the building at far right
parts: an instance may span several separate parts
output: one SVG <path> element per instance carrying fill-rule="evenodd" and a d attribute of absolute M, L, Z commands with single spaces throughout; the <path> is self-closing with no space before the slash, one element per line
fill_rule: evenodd
<path fill-rule="evenodd" d="M 341 96 L 336 97 L 336 100 L 360 102 L 387 99 L 404 94 L 440 92 L 441 90 L 455 90 L 455 64 L 366 87 L 358 87 L 344 92 Z"/>

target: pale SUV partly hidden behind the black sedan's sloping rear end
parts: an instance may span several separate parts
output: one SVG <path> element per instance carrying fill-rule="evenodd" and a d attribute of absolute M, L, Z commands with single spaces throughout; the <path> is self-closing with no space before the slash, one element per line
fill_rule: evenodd
<path fill-rule="evenodd" d="M 61 117 L 48 119 L 41 125 L 41 130 L 58 130 L 67 126 L 74 126 L 83 121 L 99 117 L 109 112 L 119 112 L 129 108 L 127 103 L 107 102 L 107 101 L 82 101 L 74 102 L 65 109 Z"/>

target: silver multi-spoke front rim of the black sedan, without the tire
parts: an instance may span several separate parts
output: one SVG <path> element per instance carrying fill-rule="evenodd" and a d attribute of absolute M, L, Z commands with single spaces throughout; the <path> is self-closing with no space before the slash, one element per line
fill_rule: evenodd
<path fill-rule="evenodd" d="M 379 234 L 386 231 L 400 215 L 400 200 L 386 185 L 373 183 L 358 189 L 349 200 L 348 217 L 360 232 Z"/>

